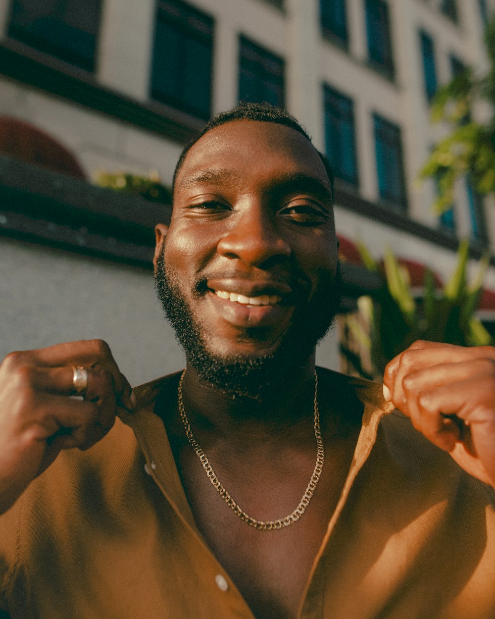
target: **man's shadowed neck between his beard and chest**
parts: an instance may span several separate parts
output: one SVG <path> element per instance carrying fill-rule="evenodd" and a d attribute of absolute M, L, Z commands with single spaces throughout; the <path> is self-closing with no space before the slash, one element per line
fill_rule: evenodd
<path fill-rule="evenodd" d="M 183 400 L 188 417 L 204 428 L 242 433 L 247 426 L 251 436 L 289 428 L 314 415 L 314 355 L 282 376 L 267 377 L 262 389 L 249 395 L 210 385 L 188 363 Z"/>

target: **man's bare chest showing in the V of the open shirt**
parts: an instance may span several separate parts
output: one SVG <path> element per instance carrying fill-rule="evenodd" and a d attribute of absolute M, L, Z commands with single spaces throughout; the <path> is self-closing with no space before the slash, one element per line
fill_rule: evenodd
<path fill-rule="evenodd" d="M 213 554 L 257 619 L 295 618 L 347 476 L 353 439 L 329 454 L 304 513 L 280 530 L 257 530 L 242 521 L 187 447 L 177 457 L 179 475 L 197 527 Z M 275 520 L 298 506 L 314 464 L 311 458 L 306 466 L 293 463 L 291 474 L 283 467 L 273 467 L 262 475 L 244 463 L 238 470 L 224 470 L 222 483 L 249 516 Z"/>

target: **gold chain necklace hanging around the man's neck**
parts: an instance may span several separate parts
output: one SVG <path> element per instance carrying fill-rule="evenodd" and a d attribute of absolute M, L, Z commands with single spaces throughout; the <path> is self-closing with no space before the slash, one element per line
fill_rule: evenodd
<path fill-rule="evenodd" d="M 303 498 L 299 501 L 299 505 L 296 509 L 285 516 L 285 518 L 278 518 L 277 520 L 269 520 L 269 521 L 261 521 L 256 520 L 246 514 L 246 512 L 239 507 L 236 501 L 230 496 L 228 491 L 223 487 L 222 482 L 218 479 L 215 471 L 210 464 L 209 459 L 207 458 L 205 452 L 201 448 L 200 444 L 197 442 L 196 438 L 192 434 L 191 426 L 189 425 L 189 421 L 187 420 L 186 411 L 184 410 L 184 402 L 182 399 L 182 384 L 184 380 L 184 376 L 186 375 L 186 370 L 181 374 L 181 379 L 179 380 L 178 387 L 178 400 L 179 400 L 179 413 L 181 415 L 181 419 L 184 424 L 184 429 L 186 430 L 186 436 L 189 443 L 191 443 L 192 448 L 196 451 L 197 457 L 199 457 L 199 461 L 203 465 L 205 473 L 208 475 L 210 482 L 213 485 L 213 488 L 218 491 L 218 494 L 223 498 L 225 503 L 230 507 L 230 509 L 239 516 L 239 518 L 247 522 L 249 526 L 254 527 L 254 529 L 258 529 L 260 531 L 271 531 L 274 529 L 283 529 L 284 527 L 289 527 L 294 522 L 297 522 L 299 518 L 304 514 L 306 508 L 309 505 L 309 501 L 316 489 L 316 484 L 320 478 L 321 472 L 323 470 L 323 461 L 325 457 L 325 450 L 323 447 L 323 438 L 320 430 L 320 413 L 318 410 L 318 402 L 317 402 L 317 393 L 318 393 L 318 376 L 316 371 L 314 373 L 314 436 L 316 437 L 316 466 L 314 467 L 313 474 L 311 475 L 311 479 L 309 480 L 308 487 L 306 488 L 306 492 L 304 492 Z"/>

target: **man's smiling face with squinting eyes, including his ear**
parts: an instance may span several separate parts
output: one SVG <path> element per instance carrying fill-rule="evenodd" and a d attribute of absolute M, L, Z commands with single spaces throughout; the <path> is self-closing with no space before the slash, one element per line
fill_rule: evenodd
<path fill-rule="evenodd" d="M 247 120 L 202 136 L 178 173 L 170 228 L 158 227 L 155 270 L 169 318 L 187 314 L 211 358 L 310 356 L 338 297 L 330 182 L 311 143 Z"/>

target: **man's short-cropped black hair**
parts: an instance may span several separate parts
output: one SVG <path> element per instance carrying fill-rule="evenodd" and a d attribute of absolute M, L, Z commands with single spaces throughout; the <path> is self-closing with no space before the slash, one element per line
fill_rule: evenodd
<path fill-rule="evenodd" d="M 277 108 L 273 105 L 270 105 L 269 103 L 241 102 L 239 103 L 239 105 L 236 105 L 236 107 L 233 108 L 232 110 L 229 110 L 226 112 L 220 112 L 220 114 L 217 114 L 217 116 L 213 116 L 213 118 L 210 118 L 208 123 L 202 129 L 202 131 L 200 131 L 199 134 L 191 140 L 191 142 L 186 144 L 183 151 L 181 152 L 181 156 L 179 157 L 179 160 L 175 167 L 173 181 L 172 181 L 172 196 L 174 194 L 175 181 L 176 181 L 177 175 L 191 147 L 194 146 L 194 144 L 196 144 L 196 142 L 200 139 L 200 137 L 204 136 L 205 133 L 210 131 L 210 129 L 214 129 L 215 127 L 218 127 L 221 124 L 229 123 L 230 121 L 233 121 L 233 120 L 255 120 L 255 121 L 261 121 L 264 123 L 285 124 L 286 127 L 295 129 L 295 131 L 298 131 L 299 133 L 303 134 L 303 136 L 309 142 L 311 142 L 311 137 L 309 137 L 308 133 L 303 129 L 301 124 L 298 123 L 298 121 L 294 118 L 294 116 L 291 116 L 288 112 L 286 112 L 285 110 L 282 110 L 282 108 Z M 323 162 L 323 165 L 325 167 L 325 171 L 327 172 L 327 175 L 329 177 L 330 190 L 332 192 L 332 199 L 333 199 L 334 197 L 334 173 L 332 171 L 332 167 L 330 165 L 328 158 L 323 153 L 321 153 L 318 149 L 315 149 L 315 150 L 319 154 Z"/>

